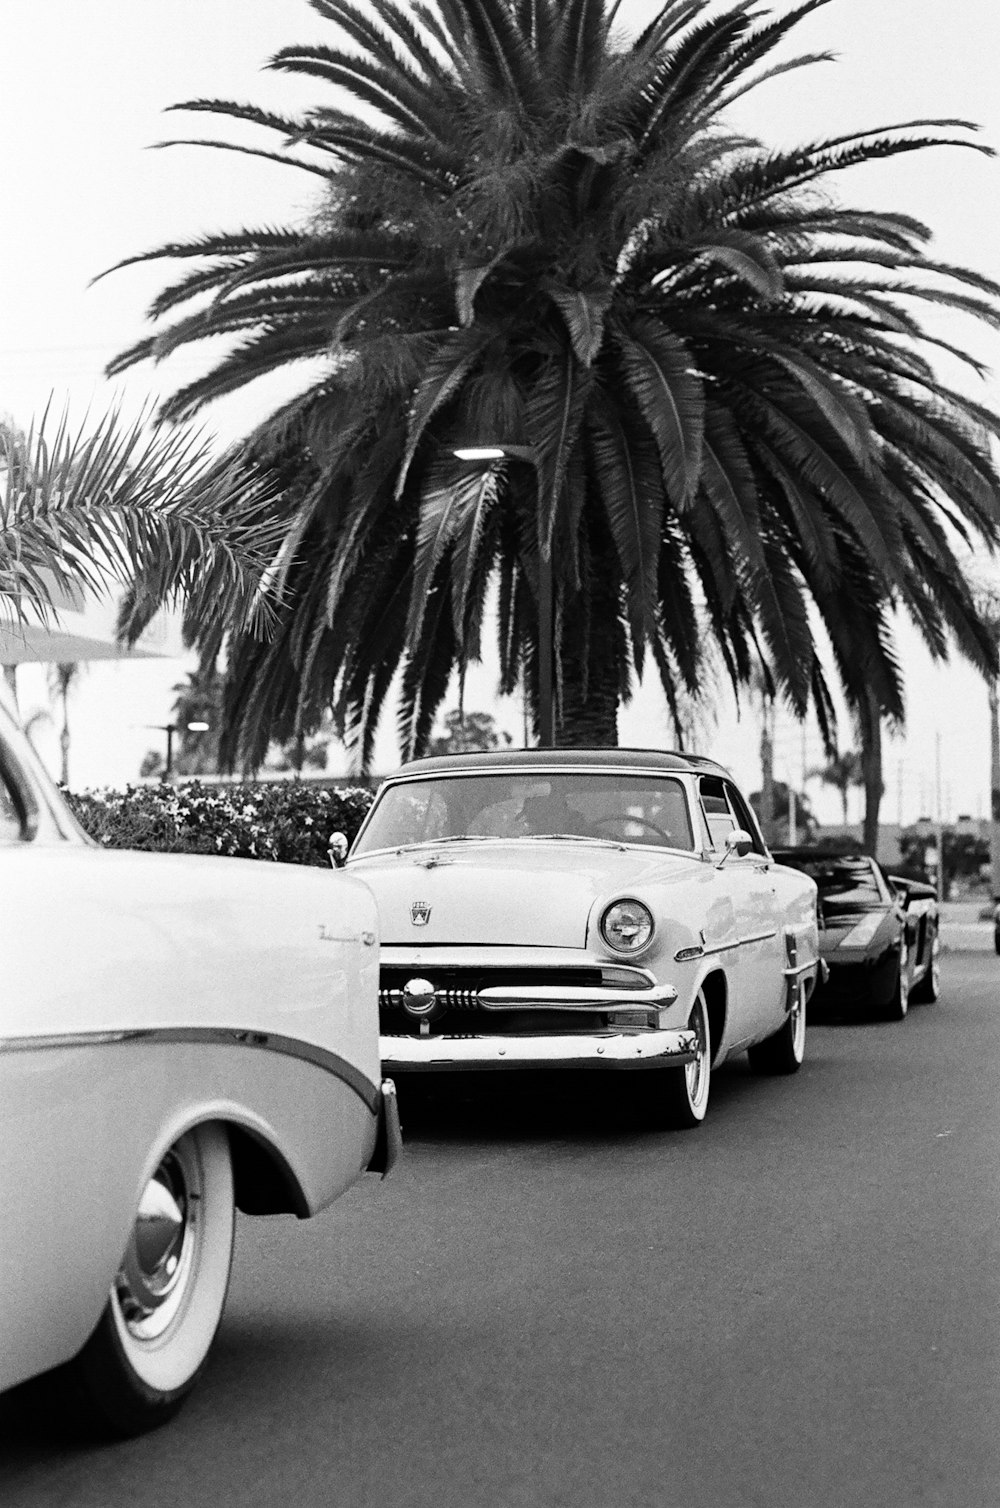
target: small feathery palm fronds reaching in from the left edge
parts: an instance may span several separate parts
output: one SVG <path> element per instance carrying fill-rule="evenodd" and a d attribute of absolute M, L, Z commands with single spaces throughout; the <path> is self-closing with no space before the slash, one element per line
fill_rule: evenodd
<path fill-rule="evenodd" d="M 204 633 L 258 630 L 262 576 L 281 540 L 273 486 L 190 430 L 124 425 L 109 413 L 77 433 L 42 418 L 0 436 L 0 614 L 51 621 L 62 600 L 124 588 L 134 641 L 157 608 L 184 600 Z M 136 584 L 142 582 L 140 587 Z"/>

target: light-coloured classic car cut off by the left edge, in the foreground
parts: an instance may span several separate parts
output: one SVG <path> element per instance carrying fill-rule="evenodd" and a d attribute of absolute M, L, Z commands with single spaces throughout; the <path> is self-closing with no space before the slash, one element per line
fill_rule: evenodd
<path fill-rule="evenodd" d="M 98 847 L 0 697 L 0 1387 L 134 1434 L 205 1365 L 234 1208 L 314 1215 L 395 1160 L 376 906 Z"/>

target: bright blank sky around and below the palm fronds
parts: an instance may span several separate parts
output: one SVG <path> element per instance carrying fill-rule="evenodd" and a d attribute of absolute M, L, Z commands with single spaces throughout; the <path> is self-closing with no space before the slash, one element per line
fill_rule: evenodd
<path fill-rule="evenodd" d="M 658 6 L 626 0 L 620 17 L 641 24 Z M 109 383 L 113 354 L 148 333 L 143 311 L 172 264 L 134 267 L 101 282 L 115 262 L 166 241 L 217 229 L 297 222 L 312 205 L 308 173 L 231 152 L 173 146 L 170 136 L 217 134 L 220 122 L 166 115 L 192 98 L 228 98 L 294 112 L 320 103 L 323 86 L 262 72 L 267 57 L 293 42 L 329 39 L 330 26 L 305 0 L 5 0 L 0 57 L 5 235 L 0 238 L 0 415 L 27 428 L 45 404 L 74 419 L 121 404 L 128 413 L 164 397 L 201 369 L 184 351 Z M 775 145 L 916 118 L 970 119 L 1000 148 L 1000 8 L 992 0 L 831 0 L 796 32 L 796 51 L 833 50 L 824 63 L 765 86 L 745 103 L 741 125 Z M 201 127 L 201 130 L 199 130 Z M 208 127 L 205 131 L 204 128 Z M 270 145 L 270 143 L 267 143 Z M 934 151 L 864 167 L 840 181 L 855 205 L 902 210 L 935 231 L 941 259 L 1000 277 L 1000 161 L 968 151 Z M 1000 336 L 959 324 L 949 333 L 994 368 Z M 949 374 L 952 375 L 952 374 Z M 231 440 L 288 391 L 288 380 L 229 398 L 205 416 Z M 1000 407 L 994 379 L 976 395 Z M 905 624 L 897 633 L 908 688 L 905 736 L 885 751 L 887 822 L 922 814 L 988 813 L 986 688 L 953 659 L 934 667 Z M 77 787 L 136 778 L 146 748 L 169 721 L 172 686 L 187 661 L 92 665 L 71 703 L 71 783 Z M 495 698 L 496 670 L 474 670 L 466 706 L 492 710 L 522 742 L 520 707 Z M 47 706 L 41 670 L 18 677 L 23 715 Z M 53 709 L 54 713 L 54 709 Z M 391 715 L 376 768 L 398 763 Z M 57 768 L 56 727 L 39 724 L 39 745 Z M 643 686 L 620 718 L 623 743 L 671 742 L 662 691 Z M 851 742 L 845 721 L 843 743 Z M 729 697 L 704 752 L 727 763 L 747 787 L 760 777 L 759 728 Z M 777 775 L 801 781 L 821 763 L 814 728 L 805 736 L 780 713 Z M 808 795 L 825 822 L 839 799 L 817 781 Z M 940 807 L 940 811 L 938 811 Z M 860 814 L 860 798 L 852 816 Z"/>

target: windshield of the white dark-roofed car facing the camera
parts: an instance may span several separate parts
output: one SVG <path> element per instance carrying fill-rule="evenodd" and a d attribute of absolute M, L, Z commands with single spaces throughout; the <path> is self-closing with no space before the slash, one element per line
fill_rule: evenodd
<path fill-rule="evenodd" d="M 462 838 L 605 838 L 694 849 L 685 789 L 662 775 L 615 771 L 498 771 L 389 786 L 354 854 Z"/>

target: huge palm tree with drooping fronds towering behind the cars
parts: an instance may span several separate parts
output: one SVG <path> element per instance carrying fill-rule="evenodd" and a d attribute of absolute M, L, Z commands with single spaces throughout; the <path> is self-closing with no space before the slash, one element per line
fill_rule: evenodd
<path fill-rule="evenodd" d="M 814 617 L 879 727 L 903 716 L 894 608 L 935 651 L 952 633 L 995 667 L 952 531 L 1000 538 L 997 418 L 940 379 L 920 311 L 995 323 L 1000 290 L 935 261 L 908 216 L 830 188 L 973 128 L 775 151 L 725 127 L 741 95 L 816 60 L 775 48 L 824 3 L 668 0 L 626 38 L 618 0 L 312 0 L 330 45 L 270 66 L 336 103 L 179 107 L 276 133 L 204 145 L 320 187 L 302 228 L 128 259 L 193 265 L 112 371 L 228 338 L 169 418 L 323 362 L 244 448 L 281 487 L 282 605 L 268 641 L 232 636 L 223 757 L 259 763 L 332 703 L 365 766 L 397 671 L 419 751 L 493 585 L 501 691 L 537 707 L 549 562 L 567 743 L 615 740 L 649 656 L 668 697 L 695 692 L 709 641 L 735 686 L 766 662 L 833 737 Z M 477 443 L 499 454 L 456 457 Z"/>

